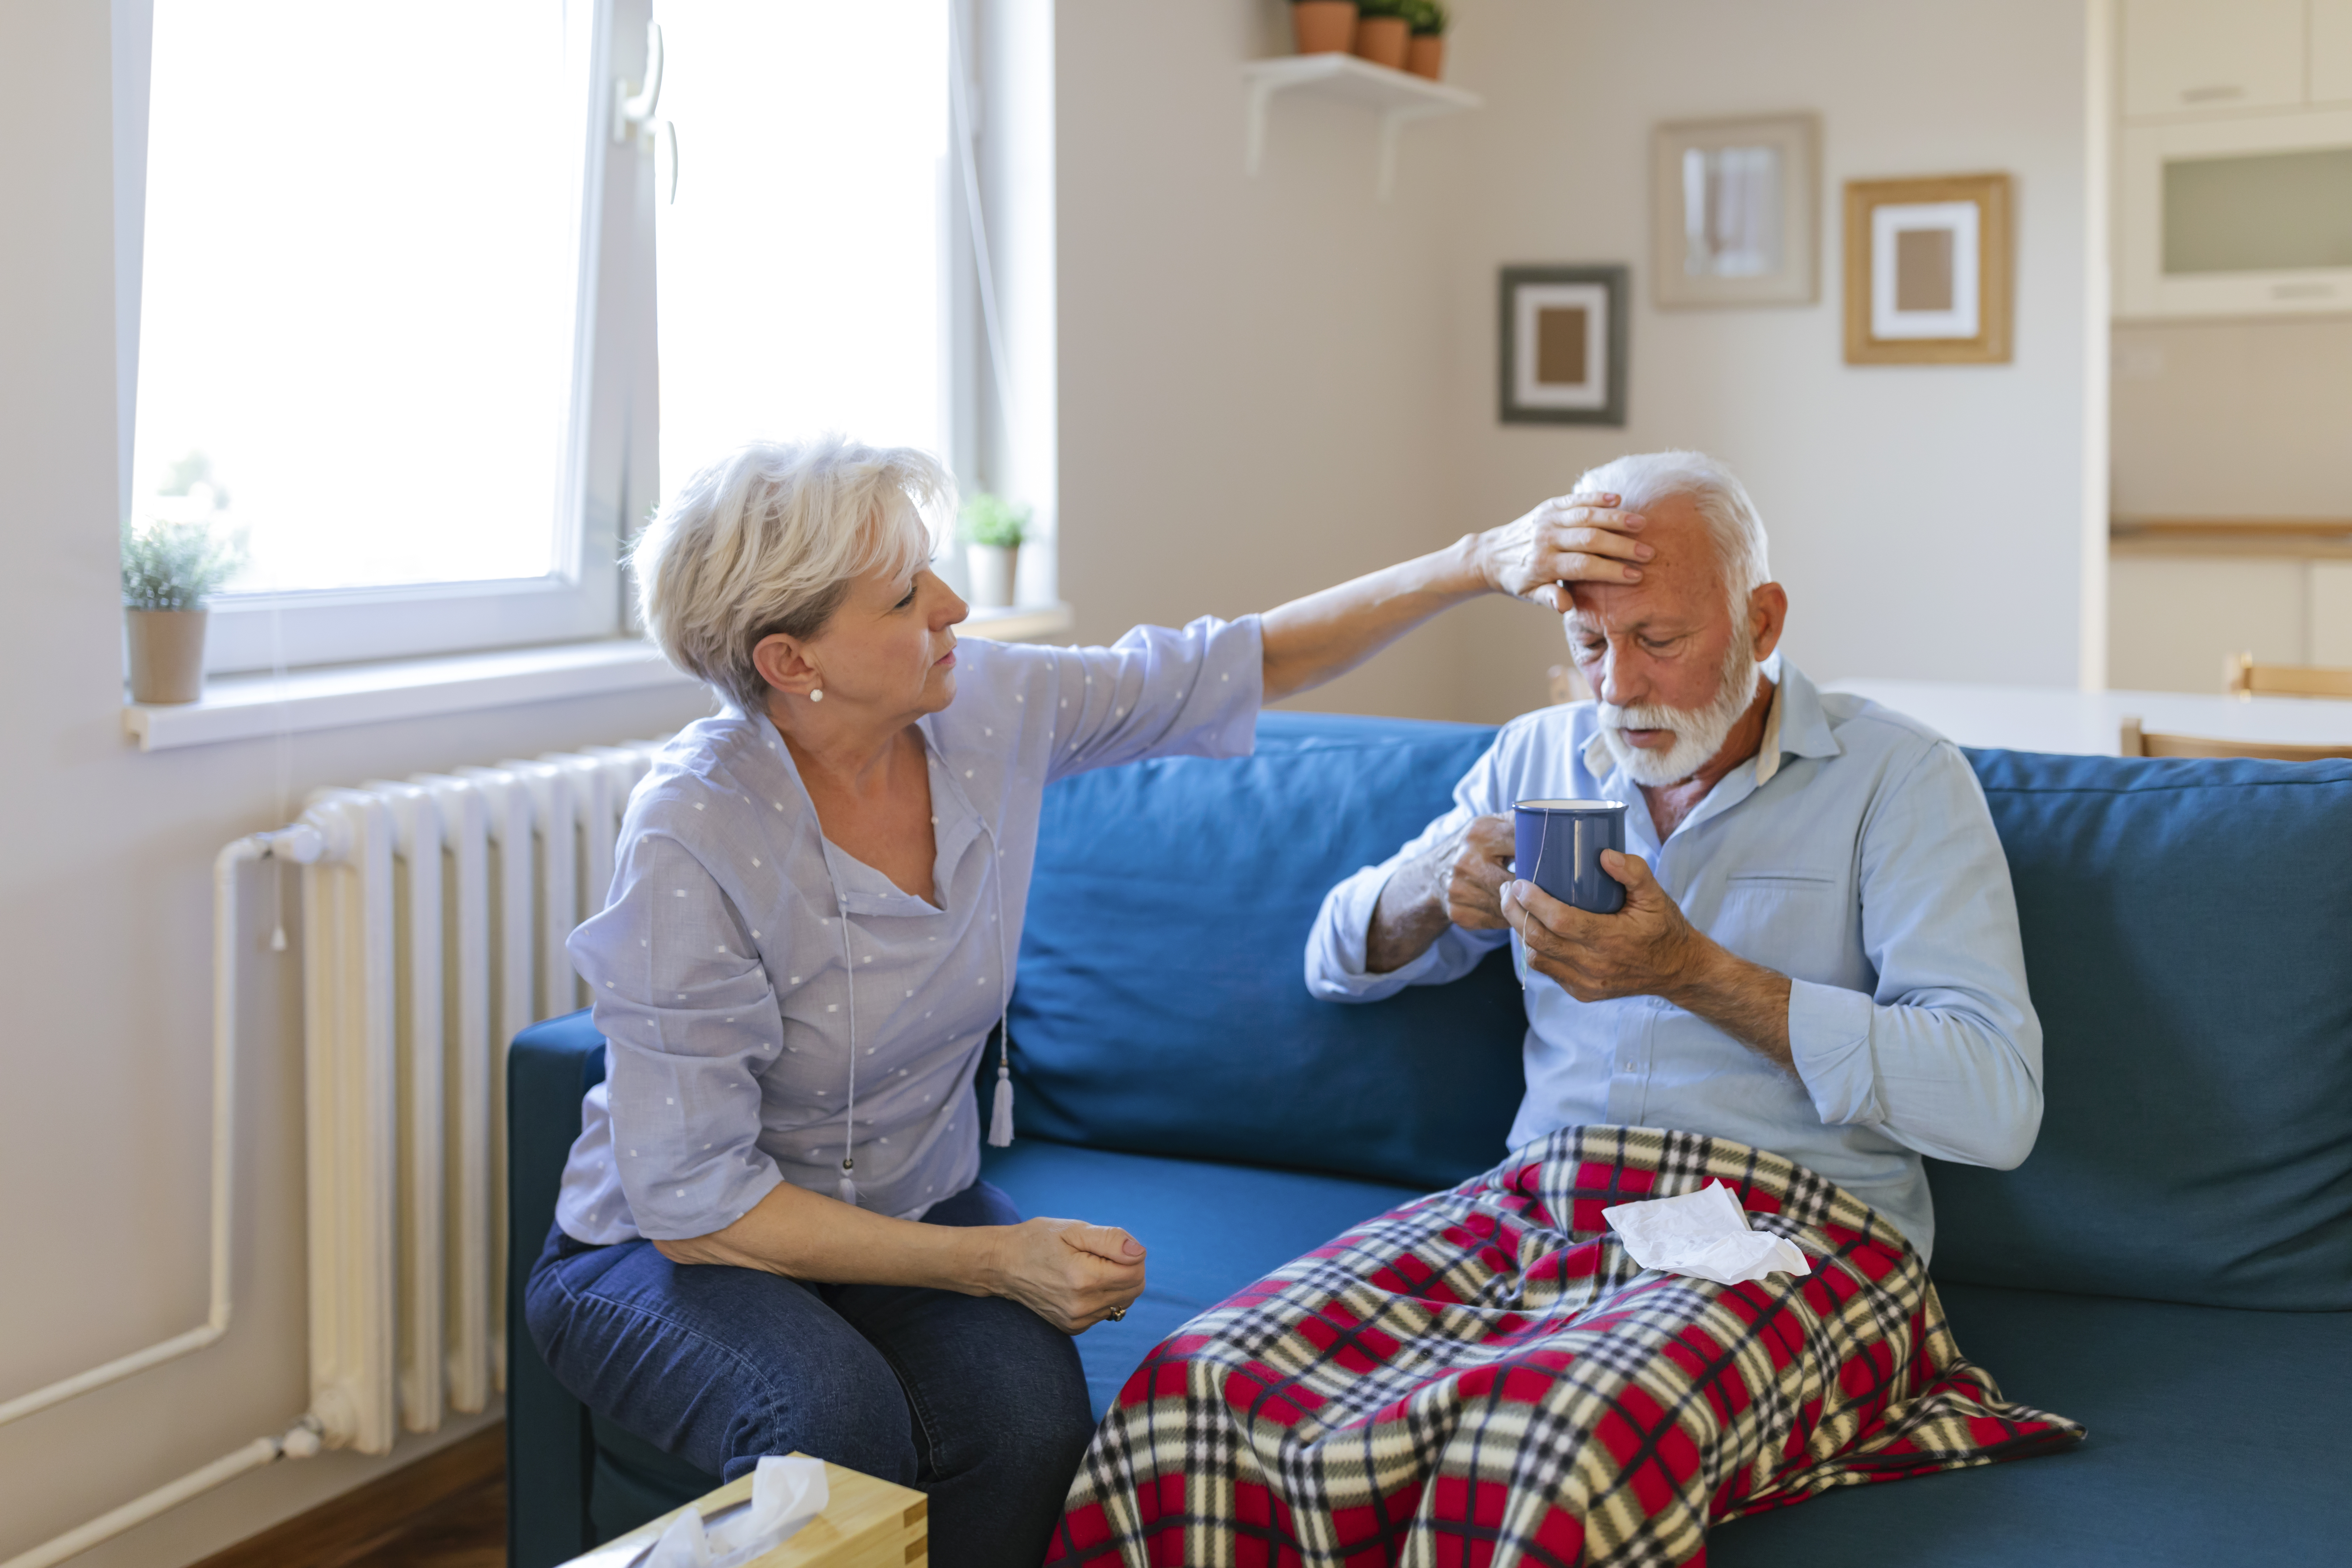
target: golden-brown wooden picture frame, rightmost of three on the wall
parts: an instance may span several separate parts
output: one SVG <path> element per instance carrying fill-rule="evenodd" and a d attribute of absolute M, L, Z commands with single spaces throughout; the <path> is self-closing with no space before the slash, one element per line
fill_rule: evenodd
<path fill-rule="evenodd" d="M 2006 174 L 1846 183 L 1846 364 L 2011 360 Z"/>

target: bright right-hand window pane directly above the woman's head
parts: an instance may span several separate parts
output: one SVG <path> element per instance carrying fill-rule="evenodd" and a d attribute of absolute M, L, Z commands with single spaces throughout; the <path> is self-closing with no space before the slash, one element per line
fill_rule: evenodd
<path fill-rule="evenodd" d="M 659 0 L 661 473 L 826 428 L 948 456 L 948 5 Z M 663 193 L 666 195 L 666 193 Z"/>

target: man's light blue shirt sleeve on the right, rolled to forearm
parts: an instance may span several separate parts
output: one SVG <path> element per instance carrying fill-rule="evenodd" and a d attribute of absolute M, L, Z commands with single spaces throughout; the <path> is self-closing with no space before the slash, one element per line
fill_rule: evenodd
<path fill-rule="evenodd" d="M 2018 1166 L 2042 1131 L 2042 1023 L 2009 860 L 1947 741 L 1865 816 L 1860 903 L 1877 990 L 1790 983 L 1790 1056 L 1813 1110 L 1936 1159 Z"/>

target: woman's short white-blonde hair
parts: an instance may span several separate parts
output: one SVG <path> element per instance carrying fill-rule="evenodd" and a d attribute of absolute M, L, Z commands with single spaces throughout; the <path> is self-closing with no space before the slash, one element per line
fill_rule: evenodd
<path fill-rule="evenodd" d="M 767 712 L 760 639 L 814 637 L 851 581 L 929 559 L 929 515 L 953 512 L 955 480 L 927 451 L 750 442 L 680 484 L 637 538 L 637 611 L 673 665 Z"/>

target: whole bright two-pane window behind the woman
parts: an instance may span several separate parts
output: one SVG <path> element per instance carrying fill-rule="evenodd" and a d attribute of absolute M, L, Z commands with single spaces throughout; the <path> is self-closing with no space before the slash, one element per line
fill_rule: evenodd
<path fill-rule="evenodd" d="M 753 435 L 969 475 L 950 2 L 153 0 L 127 508 L 245 536 L 209 668 L 619 632 Z"/>

